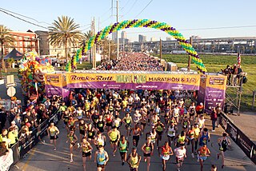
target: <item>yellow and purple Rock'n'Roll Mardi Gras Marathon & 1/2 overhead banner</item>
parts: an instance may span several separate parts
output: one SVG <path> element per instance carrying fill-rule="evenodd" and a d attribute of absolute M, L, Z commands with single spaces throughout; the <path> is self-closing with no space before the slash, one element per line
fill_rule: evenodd
<path fill-rule="evenodd" d="M 199 89 L 199 74 L 63 74 L 66 88 Z"/>

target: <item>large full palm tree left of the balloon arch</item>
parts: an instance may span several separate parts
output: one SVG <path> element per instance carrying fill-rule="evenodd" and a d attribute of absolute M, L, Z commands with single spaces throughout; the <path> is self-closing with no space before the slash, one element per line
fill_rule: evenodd
<path fill-rule="evenodd" d="M 53 25 L 49 27 L 50 43 L 54 46 L 64 46 L 67 62 L 67 46 L 74 46 L 83 37 L 81 31 L 78 30 L 79 25 L 74 22 L 74 18 L 71 19 L 67 16 L 58 17 L 58 20 L 54 20 Z"/>

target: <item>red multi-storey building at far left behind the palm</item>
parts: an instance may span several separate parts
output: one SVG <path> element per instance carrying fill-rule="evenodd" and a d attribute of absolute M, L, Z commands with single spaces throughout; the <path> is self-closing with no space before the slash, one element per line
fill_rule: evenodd
<path fill-rule="evenodd" d="M 20 53 L 35 50 L 38 52 L 38 35 L 28 30 L 26 32 L 10 31 L 10 35 L 14 38 L 14 46 L 4 47 L 4 54 L 9 54 L 14 48 Z"/>

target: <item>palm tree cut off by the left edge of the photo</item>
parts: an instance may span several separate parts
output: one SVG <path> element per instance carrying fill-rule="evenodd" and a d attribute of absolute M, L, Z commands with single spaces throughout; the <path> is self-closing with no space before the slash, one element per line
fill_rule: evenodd
<path fill-rule="evenodd" d="M 2 52 L 1 61 L 2 61 L 3 69 L 6 69 L 6 65 L 3 60 L 3 54 L 4 54 L 3 47 L 12 46 L 14 44 L 14 38 L 11 36 L 9 32 L 10 30 L 6 26 L 0 25 L 0 45 L 1 45 L 1 52 Z"/>

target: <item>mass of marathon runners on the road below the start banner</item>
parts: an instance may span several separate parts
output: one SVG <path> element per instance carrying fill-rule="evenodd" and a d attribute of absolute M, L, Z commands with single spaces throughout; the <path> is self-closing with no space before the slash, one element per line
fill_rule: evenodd
<path fill-rule="evenodd" d="M 66 128 L 70 162 L 74 162 L 74 149 L 81 148 L 84 170 L 86 160 L 91 158 L 98 170 L 104 170 L 110 157 L 119 152 L 122 165 L 128 163 L 130 170 L 138 170 L 144 160 L 149 171 L 153 155 L 159 156 L 162 170 L 166 170 L 172 155 L 177 170 L 187 155 L 196 157 L 203 169 L 203 162 L 210 157 L 210 131 L 205 127 L 203 112 L 202 103 L 195 105 L 193 93 L 188 91 L 76 89 L 70 101 L 62 102 L 58 113 Z M 126 131 L 121 133 L 121 128 Z M 58 133 L 57 126 L 51 123 L 48 135 L 54 150 Z M 162 141 L 164 136 L 168 141 Z M 145 143 L 138 146 L 139 141 Z M 110 144 L 112 153 L 104 150 L 106 144 Z M 218 144 L 223 168 L 224 152 L 230 145 L 226 133 Z M 216 169 L 212 165 L 212 170 Z"/>

